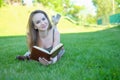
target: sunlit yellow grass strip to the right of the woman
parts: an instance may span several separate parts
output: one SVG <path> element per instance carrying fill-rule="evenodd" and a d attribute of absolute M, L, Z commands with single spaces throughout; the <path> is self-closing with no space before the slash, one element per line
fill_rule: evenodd
<path fill-rule="evenodd" d="M 60 33 L 81 33 L 81 32 L 95 32 L 99 30 L 105 30 L 111 27 L 108 26 L 90 26 L 90 27 L 84 27 L 84 26 L 77 26 L 68 20 L 66 20 L 64 17 L 61 18 L 60 23 L 58 24 L 58 29 Z"/>

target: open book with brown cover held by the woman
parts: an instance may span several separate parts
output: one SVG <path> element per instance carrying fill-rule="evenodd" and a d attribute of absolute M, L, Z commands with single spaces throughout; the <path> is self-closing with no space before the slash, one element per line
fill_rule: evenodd
<path fill-rule="evenodd" d="M 56 47 L 54 47 L 50 52 L 47 50 L 40 48 L 38 46 L 33 46 L 32 47 L 32 52 L 30 55 L 30 59 L 39 61 L 39 57 L 45 58 L 46 60 L 50 61 L 50 57 L 55 57 L 58 55 L 60 50 L 62 49 L 63 44 L 60 43 Z"/>

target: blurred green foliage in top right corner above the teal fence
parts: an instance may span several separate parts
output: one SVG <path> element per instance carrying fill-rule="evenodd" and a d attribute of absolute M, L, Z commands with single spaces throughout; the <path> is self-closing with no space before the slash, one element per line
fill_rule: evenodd
<path fill-rule="evenodd" d="M 97 8 L 98 17 L 120 13 L 120 0 L 93 0 L 93 4 Z"/>

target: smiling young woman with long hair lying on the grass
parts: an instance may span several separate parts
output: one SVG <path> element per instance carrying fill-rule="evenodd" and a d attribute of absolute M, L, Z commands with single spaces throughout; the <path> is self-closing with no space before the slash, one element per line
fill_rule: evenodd
<path fill-rule="evenodd" d="M 55 25 L 57 24 L 54 23 Z M 44 48 L 51 51 L 60 43 L 60 33 L 56 27 L 52 26 L 47 14 L 41 10 L 35 10 L 30 14 L 27 28 L 27 44 L 29 51 L 24 56 L 17 56 L 19 60 L 29 59 L 32 46 Z M 61 49 L 59 54 L 47 61 L 44 58 L 39 58 L 39 62 L 43 65 L 55 63 L 63 55 L 64 49 Z"/>

